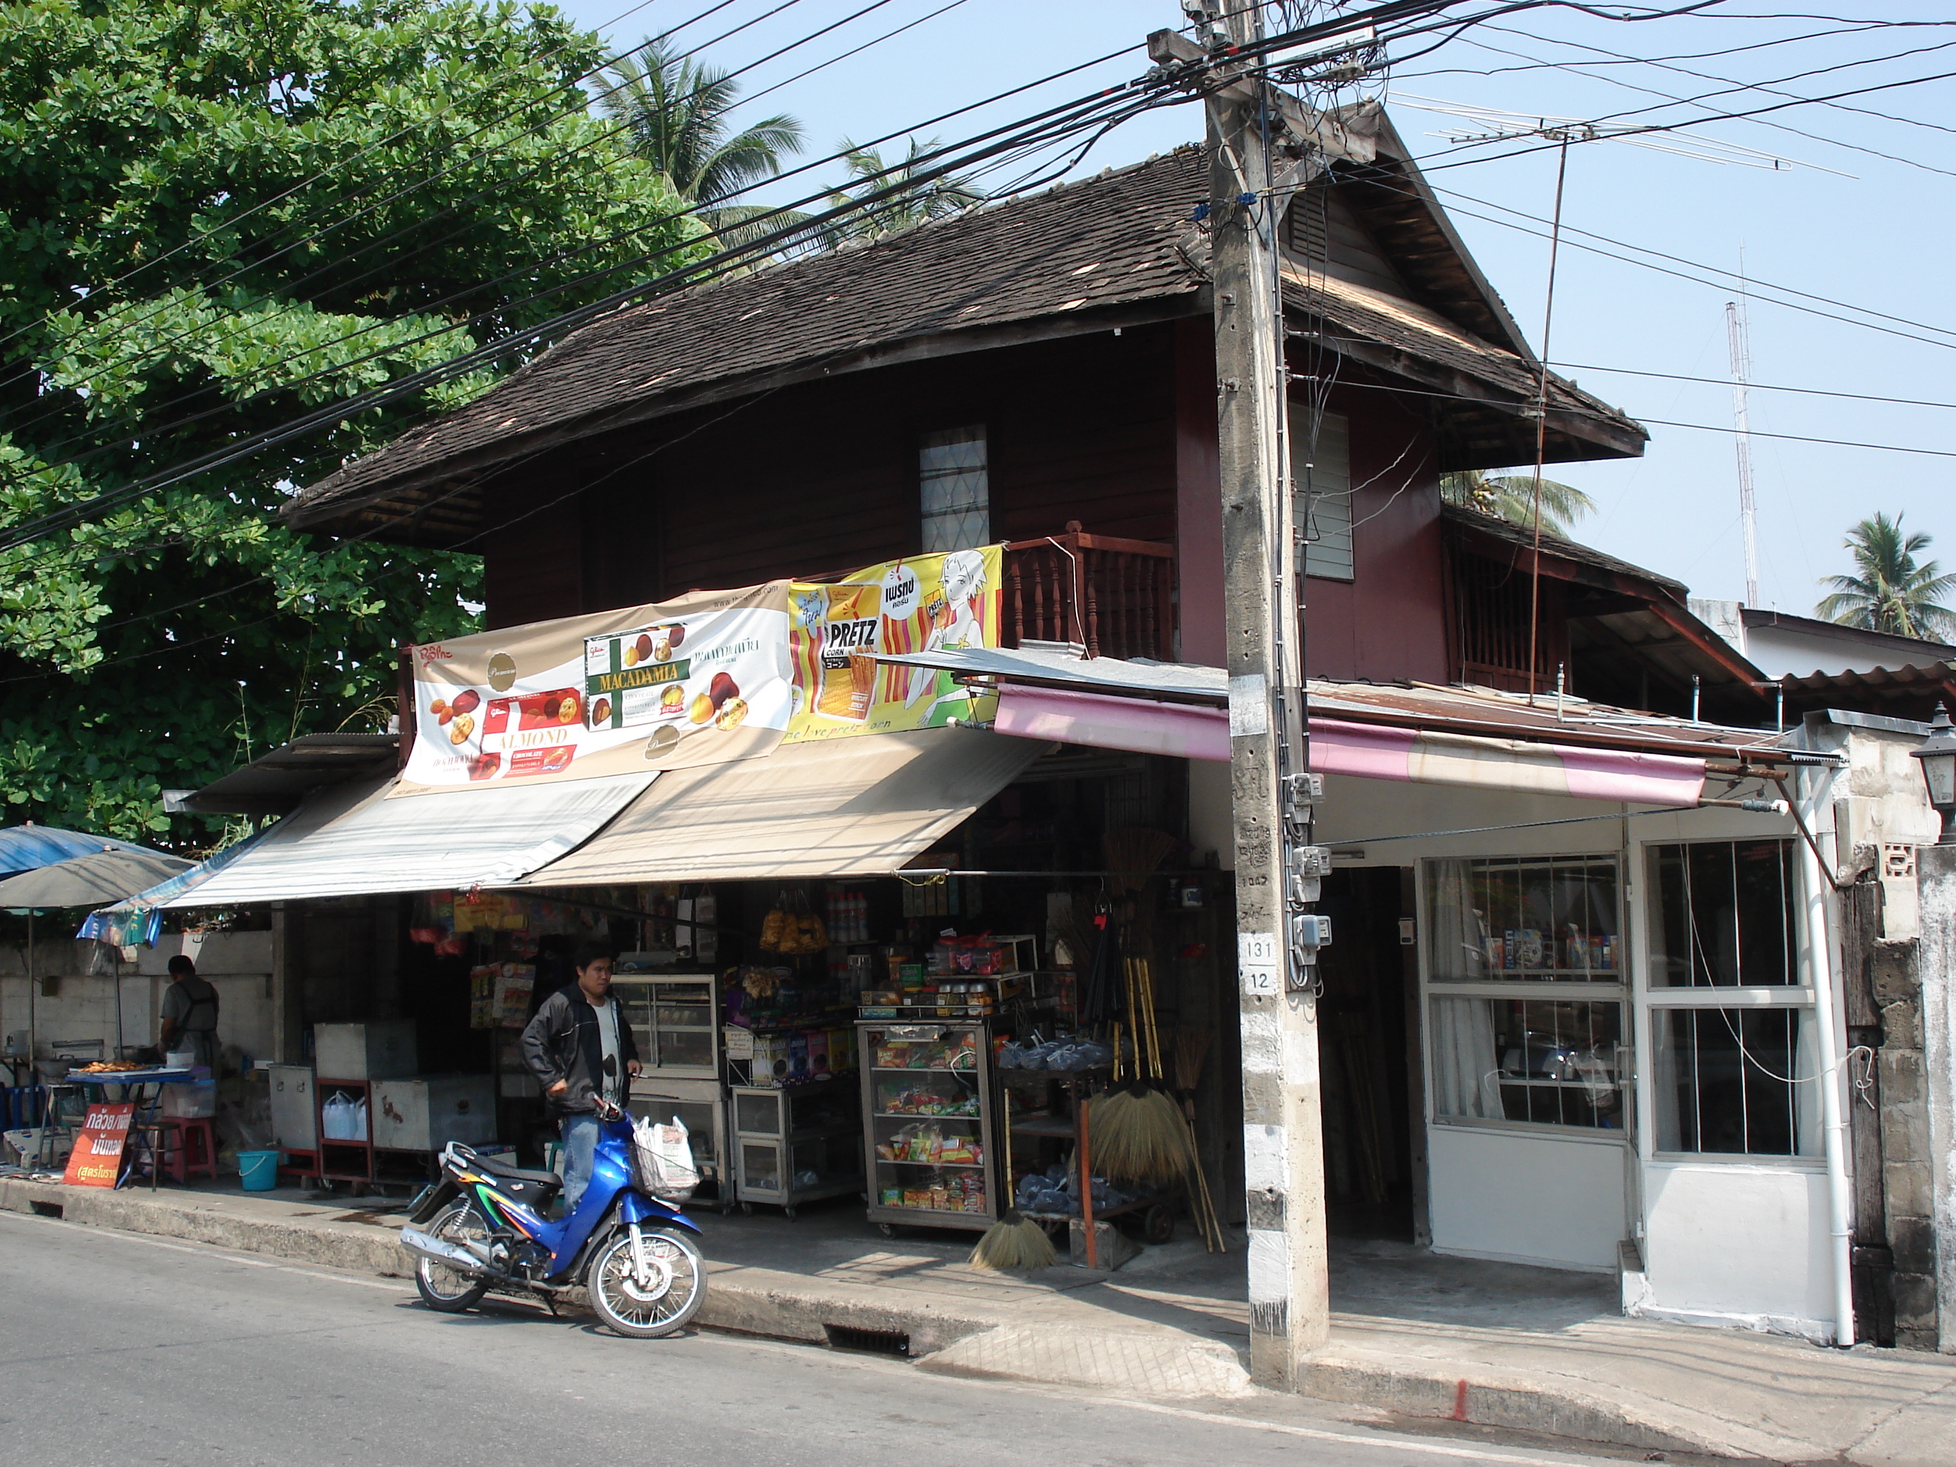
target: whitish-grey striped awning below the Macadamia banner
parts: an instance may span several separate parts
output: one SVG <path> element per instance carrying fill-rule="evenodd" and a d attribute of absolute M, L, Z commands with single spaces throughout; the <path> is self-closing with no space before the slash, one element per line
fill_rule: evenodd
<path fill-rule="evenodd" d="M 313 794 L 250 849 L 223 853 L 221 870 L 158 906 L 505 886 L 583 845 L 653 778 L 657 771 L 419 800 L 389 800 L 393 778 L 342 784 Z"/>

